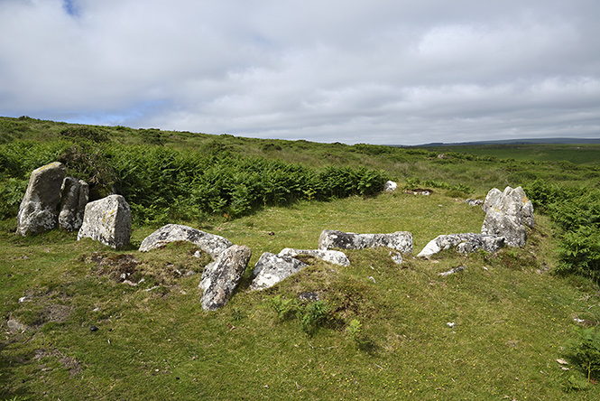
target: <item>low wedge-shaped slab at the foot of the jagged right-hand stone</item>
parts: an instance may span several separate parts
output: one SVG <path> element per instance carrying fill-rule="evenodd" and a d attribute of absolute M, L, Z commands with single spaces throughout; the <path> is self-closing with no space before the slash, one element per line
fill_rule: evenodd
<path fill-rule="evenodd" d="M 456 247 L 457 251 L 463 254 L 475 252 L 477 249 L 484 249 L 486 252 L 494 253 L 503 246 L 503 237 L 475 234 L 471 232 L 448 234 L 430 240 L 417 257 L 429 259 L 429 257 L 437 254 L 439 251 L 449 249 L 450 247 Z"/>

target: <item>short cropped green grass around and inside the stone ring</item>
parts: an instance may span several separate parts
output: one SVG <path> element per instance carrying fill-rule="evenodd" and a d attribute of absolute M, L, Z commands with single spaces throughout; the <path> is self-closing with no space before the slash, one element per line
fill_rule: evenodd
<path fill-rule="evenodd" d="M 103 400 L 595 399 L 597 386 L 565 391 L 568 378 L 586 377 L 573 367 L 560 370 L 556 359 L 566 357 L 574 317 L 600 321 L 600 293 L 585 279 L 549 274 L 554 240 L 548 219 L 537 219 L 523 249 L 496 256 L 445 252 L 433 261 L 406 256 L 403 266 L 392 263 L 387 249 L 348 251 L 349 267 L 313 260 L 299 275 L 258 293 L 248 291 L 258 256 L 282 247 L 317 247 L 323 228 L 409 230 L 416 254 L 438 234 L 477 231 L 483 212 L 443 193 L 394 193 L 305 201 L 215 220 L 209 231 L 253 249 L 240 288 L 218 312 L 201 309 L 199 275 L 172 275 L 174 268 L 199 271 L 208 263 L 190 255 L 193 247 L 135 250 L 152 228 L 134 228 L 134 245 L 116 252 L 60 231 L 20 238 L 14 221 L 5 220 L 0 307 L 30 329 L 5 332 L 0 342 L 0 394 Z M 91 257 L 120 254 L 140 262 L 137 278 L 148 284 L 120 284 L 118 263 L 98 266 Z M 439 275 L 456 266 L 466 270 Z M 295 299 L 307 291 L 318 292 L 335 311 L 335 319 L 313 336 L 297 320 L 280 321 L 268 308 L 276 294 Z M 20 303 L 23 296 L 31 301 Z M 362 324 L 362 345 L 347 331 L 352 320 Z M 92 325 L 98 331 L 90 331 Z"/>

